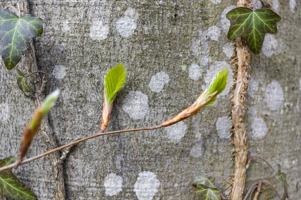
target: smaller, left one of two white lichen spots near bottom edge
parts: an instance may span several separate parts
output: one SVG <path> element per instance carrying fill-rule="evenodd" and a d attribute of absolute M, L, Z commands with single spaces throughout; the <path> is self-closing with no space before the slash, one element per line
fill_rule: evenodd
<path fill-rule="evenodd" d="M 112 196 L 122 190 L 122 177 L 116 173 L 110 173 L 104 178 L 105 194 Z"/>

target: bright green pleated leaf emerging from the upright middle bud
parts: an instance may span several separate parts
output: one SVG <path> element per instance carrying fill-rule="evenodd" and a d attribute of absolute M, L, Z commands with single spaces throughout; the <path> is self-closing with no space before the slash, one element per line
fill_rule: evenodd
<path fill-rule="evenodd" d="M 111 68 L 104 77 L 104 93 L 107 106 L 114 100 L 117 92 L 123 87 L 126 72 L 122 63 Z"/>

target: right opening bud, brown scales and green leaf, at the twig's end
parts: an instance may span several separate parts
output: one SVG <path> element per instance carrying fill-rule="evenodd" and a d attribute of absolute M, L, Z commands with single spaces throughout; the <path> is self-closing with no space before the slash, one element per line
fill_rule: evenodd
<path fill-rule="evenodd" d="M 188 108 L 180 112 L 177 116 L 161 123 L 163 127 L 170 126 L 179 121 L 182 121 L 188 117 L 196 114 L 202 107 L 211 105 L 214 103 L 216 96 L 220 94 L 226 87 L 228 78 L 228 67 L 218 72 L 215 78 L 210 83 L 208 89 L 198 97 L 198 99 Z"/>

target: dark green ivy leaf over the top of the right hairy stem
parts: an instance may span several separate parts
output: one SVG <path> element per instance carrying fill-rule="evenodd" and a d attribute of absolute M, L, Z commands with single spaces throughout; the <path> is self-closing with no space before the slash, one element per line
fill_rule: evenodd
<path fill-rule="evenodd" d="M 255 54 L 260 53 L 265 34 L 277 32 L 276 23 L 281 19 L 271 9 L 260 8 L 253 11 L 247 7 L 232 9 L 226 17 L 231 23 L 228 39 L 241 36 Z"/>

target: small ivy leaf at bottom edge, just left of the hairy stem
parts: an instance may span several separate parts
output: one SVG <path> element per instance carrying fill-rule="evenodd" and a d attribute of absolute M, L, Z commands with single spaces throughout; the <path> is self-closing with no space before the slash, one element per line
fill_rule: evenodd
<path fill-rule="evenodd" d="M 195 192 L 201 194 L 203 200 L 221 200 L 221 191 L 215 186 L 213 177 L 198 175 L 192 184 L 197 185 Z"/>

